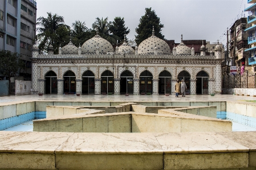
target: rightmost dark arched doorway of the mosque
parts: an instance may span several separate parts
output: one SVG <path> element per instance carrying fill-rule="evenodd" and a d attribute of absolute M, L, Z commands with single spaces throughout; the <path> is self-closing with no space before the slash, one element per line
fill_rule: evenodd
<path fill-rule="evenodd" d="M 205 71 L 197 73 L 196 93 L 197 94 L 208 94 L 208 78 L 209 75 Z"/>

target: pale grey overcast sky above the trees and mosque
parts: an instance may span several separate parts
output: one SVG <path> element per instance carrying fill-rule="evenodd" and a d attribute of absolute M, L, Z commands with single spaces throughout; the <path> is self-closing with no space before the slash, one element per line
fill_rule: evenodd
<path fill-rule="evenodd" d="M 135 39 L 135 28 L 139 24 L 141 16 L 145 14 L 145 8 L 152 7 L 160 22 L 164 24 L 162 34 L 168 40 L 180 42 L 181 34 L 184 40 L 205 39 L 210 43 L 220 40 L 226 43 L 227 27 L 234 23 L 235 19 L 247 13 L 242 12 L 247 0 L 157 0 L 157 1 L 87 1 L 87 0 L 36 0 L 37 17 L 47 17 L 47 12 L 64 17 L 68 26 L 72 26 L 75 20 L 86 23 L 92 27 L 96 17 L 113 21 L 116 16 L 124 17 L 125 26 L 130 29 L 128 39 Z"/>

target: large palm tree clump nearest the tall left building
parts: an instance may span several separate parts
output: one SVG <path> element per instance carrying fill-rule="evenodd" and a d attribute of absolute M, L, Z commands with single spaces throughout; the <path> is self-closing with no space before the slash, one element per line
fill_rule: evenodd
<path fill-rule="evenodd" d="M 36 21 L 36 39 L 39 41 L 39 50 L 46 52 L 51 41 L 54 53 L 58 53 L 59 44 L 66 45 L 70 36 L 70 27 L 64 24 L 63 16 L 47 13 L 47 18 L 40 16 Z"/>

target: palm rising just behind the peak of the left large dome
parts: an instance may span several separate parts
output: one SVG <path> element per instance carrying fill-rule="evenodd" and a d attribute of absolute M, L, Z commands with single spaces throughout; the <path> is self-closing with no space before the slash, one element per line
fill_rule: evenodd
<path fill-rule="evenodd" d="M 118 37 L 110 34 L 109 26 L 108 17 L 105 19 L 97 17 L 95 22 L 92 24 L 92 28 L 97 30 L 102 38 L 108 40 L 111 44 L 115 44 Z"/>

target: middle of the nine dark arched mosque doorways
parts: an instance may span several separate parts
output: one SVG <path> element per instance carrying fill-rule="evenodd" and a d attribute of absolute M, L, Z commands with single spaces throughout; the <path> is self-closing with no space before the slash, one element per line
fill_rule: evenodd
<path fill-rule="evenodd" d="M 120 93 L 133 94 L 133 74 L 130 71 L 124 71 L 120 79 Z"/>

